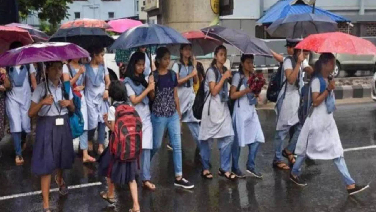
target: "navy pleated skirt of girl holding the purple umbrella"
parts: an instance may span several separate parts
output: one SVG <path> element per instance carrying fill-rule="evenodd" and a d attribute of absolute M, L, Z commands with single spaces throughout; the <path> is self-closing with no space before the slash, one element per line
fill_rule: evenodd
<path fill-rule="evenodd" d="M 59 116 L 41 116 L 36 123 L 36 136 L 31 159 L 31 172 L 36 175 L 52 174 L 55 169 L 71 169 L 74 162 L 72 132 L 68 114 L 64 125 L 56 126 Z"/>

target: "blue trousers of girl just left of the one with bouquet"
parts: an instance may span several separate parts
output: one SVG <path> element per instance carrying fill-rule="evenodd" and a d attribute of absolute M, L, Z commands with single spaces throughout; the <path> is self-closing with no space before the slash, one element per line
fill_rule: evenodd
<path fill-rule="evenodd" d="M 201 155 L 201 162 L 202 162 L 203 170 L 209 169 L 210 153 L 211 153 L 211 146 L 212 146 L 213 140 L 214 138 L 209 138 L 206 141 L 200 141 L 200 155 Z M 230 161 L 231 161 L 231 149 L 232 149 L 233 140 L 234 140 L 233 136 L 217 138 L 218 149 L 220 151 L 219 163 L 220 163 L 221 169 L 225 172 L 229 172 L 231 168 Z"/>

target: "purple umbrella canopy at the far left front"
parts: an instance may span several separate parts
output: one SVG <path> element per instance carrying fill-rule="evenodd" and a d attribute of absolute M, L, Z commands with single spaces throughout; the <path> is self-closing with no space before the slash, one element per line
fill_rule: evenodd
<path fill-rule="evenodd" d="M 0 66 L 15 66 L 45 61 L 89 57 L 89 52 L 73 43 L 34 43 L 0 55 Z"/>

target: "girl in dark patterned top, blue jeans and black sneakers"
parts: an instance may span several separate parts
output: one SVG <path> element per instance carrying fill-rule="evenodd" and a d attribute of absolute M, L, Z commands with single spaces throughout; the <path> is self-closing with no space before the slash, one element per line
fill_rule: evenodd
<path fill-rule="evenodd" d="M 183 178 L 182 142 L 180 137 L 180 107 L 177 95 L 177 77 L 174 71 L 168 69 L 170 65 L 170 51 L 166 47 L 159 47 L 156 51 L 153 76 L 156 83 L 155 92 L 150 95 L 152 105 L 153 125 L 153 155 L 161 147 L 165 129 L 168 129 L 170 142 L 173 147 L 173 163 L 175 171 L 174 185 L 184 189 L 192 189 L 194 185 Z"/>

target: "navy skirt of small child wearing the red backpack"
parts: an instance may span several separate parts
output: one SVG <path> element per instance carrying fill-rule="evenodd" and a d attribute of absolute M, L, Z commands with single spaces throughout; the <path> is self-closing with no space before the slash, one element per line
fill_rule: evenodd
<path fill-rule="evenodd" d="M 128 184 L 135 180 L 137 163 L 136 161 L 114 160 L 108 147 L 98 159 L 98 173 L 103 177 L 111 178 L 112 183 Z"/>

